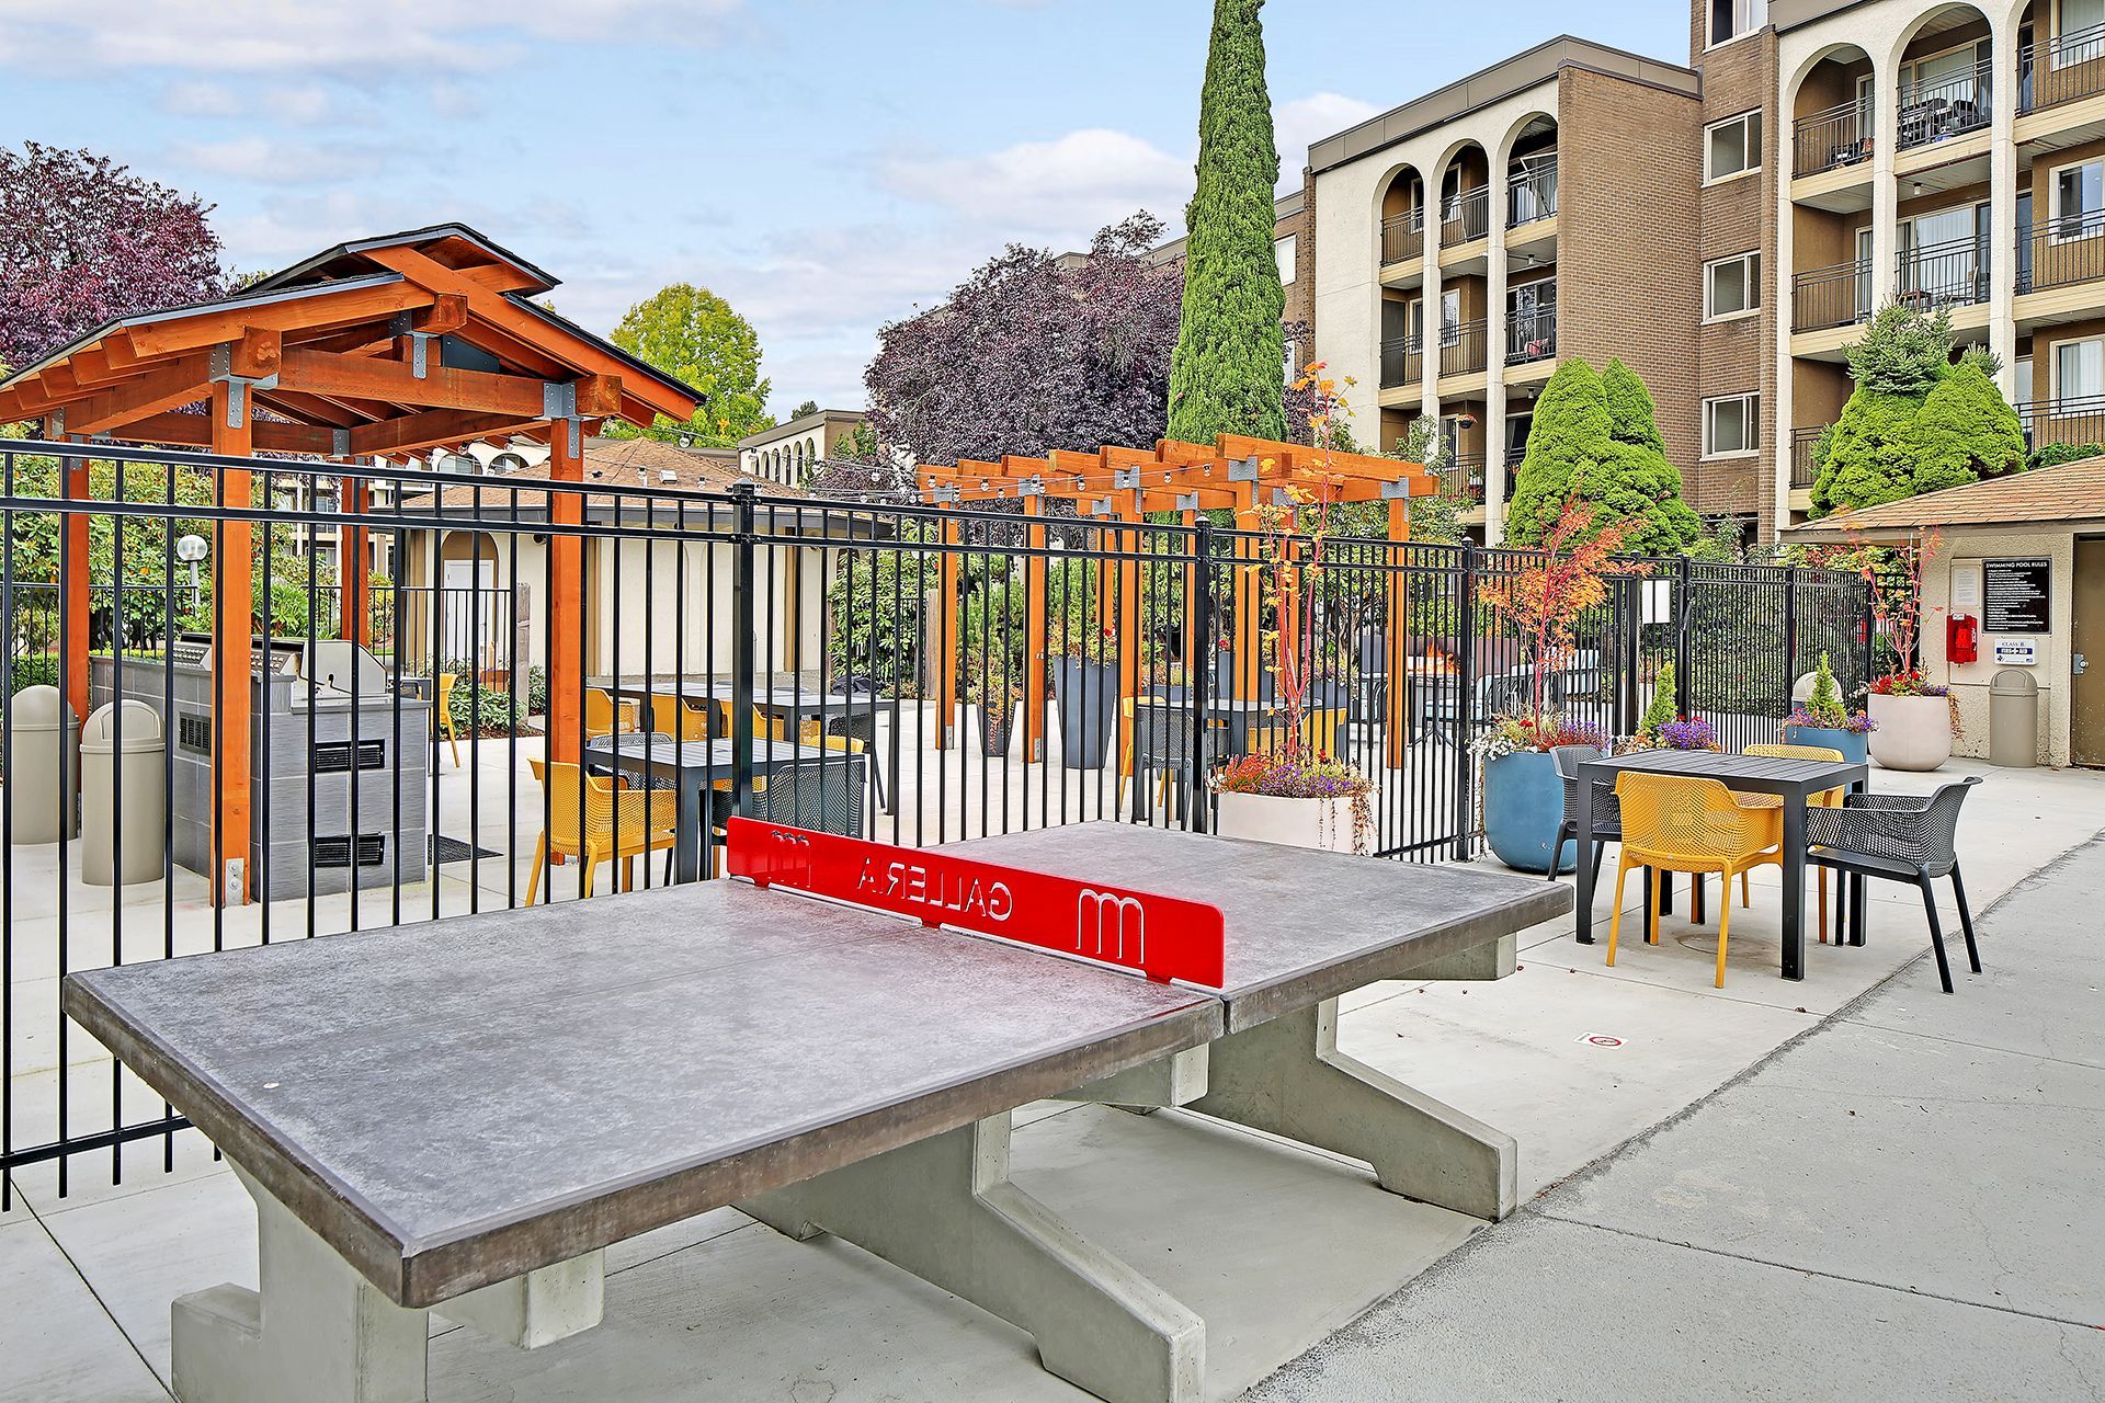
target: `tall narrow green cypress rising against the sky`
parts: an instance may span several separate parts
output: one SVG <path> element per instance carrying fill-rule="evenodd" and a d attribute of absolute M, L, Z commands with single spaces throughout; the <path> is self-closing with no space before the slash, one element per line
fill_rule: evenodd
<path fill-rule="evenodd" d="M 1265 93 L 1265 0 L 1215 0 L 1198 105 L 1198 189 L 1185 210 L 1185 299 L 1168 435 L 1286 438 L 1286 294 L 1271 252 L 1280 151 Z"/>

